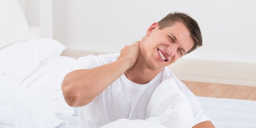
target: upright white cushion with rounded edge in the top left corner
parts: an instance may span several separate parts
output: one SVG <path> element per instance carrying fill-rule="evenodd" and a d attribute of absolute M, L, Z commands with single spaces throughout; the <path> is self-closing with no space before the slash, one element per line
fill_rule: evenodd
<path fill-rule="evenodd" d="M 28 37 L 28 23 L 17 0 L 0 0 L 0 49 Z"/>

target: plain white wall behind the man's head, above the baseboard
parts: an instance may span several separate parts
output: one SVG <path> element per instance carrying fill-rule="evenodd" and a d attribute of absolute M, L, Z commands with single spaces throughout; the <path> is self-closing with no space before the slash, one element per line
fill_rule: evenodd
<path fill-rule="evenodd" d="M 253 0 L 53 0 L 53 38 L 67 49 L 119 52 L 167 13 L 189 13 L 203 47 L 184 58 L 256 63 Z"/>

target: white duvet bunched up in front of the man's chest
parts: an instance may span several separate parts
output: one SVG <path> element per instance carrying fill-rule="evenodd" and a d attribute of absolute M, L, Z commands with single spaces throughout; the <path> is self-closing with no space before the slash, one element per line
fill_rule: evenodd
<path fill-rule="evenodd" d="M 119 119 L 100 128 L 191 128 L 193 113 L 190 102 L 172 77 L 164 80 L 154 91 L 146 109 L 146 118 Z"/>

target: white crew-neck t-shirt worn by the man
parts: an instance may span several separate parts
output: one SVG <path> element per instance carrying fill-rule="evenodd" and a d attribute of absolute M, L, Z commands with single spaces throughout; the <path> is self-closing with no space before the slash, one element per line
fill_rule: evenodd
<path fill-rule="evenodd" d="M 116 61 L 118 56 L 119 53 L 80 57 L 74 68 L 95 68 Z M 148 84 L 143 85 L 133 83 L 123 74 L 100 93 L 92 102 L 83 107 L 79 107 L 79 127 L 98 128 L 121 118 L 129 118 L 134 106 L 137 104 L 140 96 L 147 87 L 152 86 L 153 84 L 159 85 L 163 80 L 170 76 L 175 79 L 180 90 L 190 101 L 194 115 L 193 126 L 204 121 L 209 121 L 196 96 L 185 84 L 180 82 L 167 67 L 165 67 Z"/>

